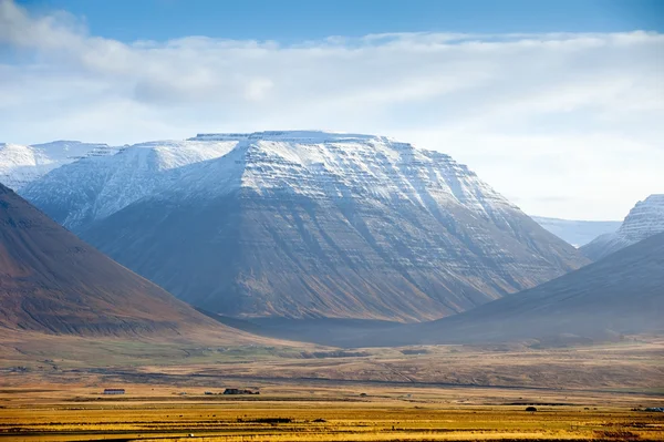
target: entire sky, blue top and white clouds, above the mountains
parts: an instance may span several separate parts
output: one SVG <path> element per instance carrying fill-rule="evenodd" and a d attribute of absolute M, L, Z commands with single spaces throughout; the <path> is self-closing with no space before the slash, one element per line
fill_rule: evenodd
<path fill-rule="evenodd" d="M 622 219 L 664 193 L 662 32 L 658 0 L 0 0 L 0 142 L 371 133 Z"/>

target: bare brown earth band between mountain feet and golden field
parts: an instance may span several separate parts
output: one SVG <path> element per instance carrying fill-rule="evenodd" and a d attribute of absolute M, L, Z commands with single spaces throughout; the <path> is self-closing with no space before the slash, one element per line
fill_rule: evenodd
<path fill-rule="evenodd" d="M 66 338 L 66 339 L 65 339 Z M 214 339 L 137 342 L 48 337 L 0 339 L 0 369 L 8 387 L 25 376 L 45 380 L 94 376 L 114 382 L 205 386 L 301 382 L 377 386 L 532 389 L 620 393 L 662 399 L 664 340 L 537 349 L 510 346 L 423 346 L 340 350 L 325 347 L 215 343 Z"/>

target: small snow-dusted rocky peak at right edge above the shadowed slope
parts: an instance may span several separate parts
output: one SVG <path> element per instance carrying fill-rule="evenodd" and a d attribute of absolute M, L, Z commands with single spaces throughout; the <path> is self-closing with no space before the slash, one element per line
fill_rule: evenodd
<path fill-rule="evenodd" d="M 664 194 L 651 195 L 636 203 L 618 232 L 601 235 L 580 250 L 598 260 L 661 232 L 664 232 Z"/>

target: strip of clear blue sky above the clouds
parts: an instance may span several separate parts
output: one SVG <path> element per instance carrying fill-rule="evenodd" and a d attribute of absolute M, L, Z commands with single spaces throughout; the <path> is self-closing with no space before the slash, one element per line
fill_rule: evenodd
<path fill-rule="evenodd" d="M 92 34 L 292 42 L 384 32 L 662 31 L 661 0 L 23 0 L 84 17 Z"/>

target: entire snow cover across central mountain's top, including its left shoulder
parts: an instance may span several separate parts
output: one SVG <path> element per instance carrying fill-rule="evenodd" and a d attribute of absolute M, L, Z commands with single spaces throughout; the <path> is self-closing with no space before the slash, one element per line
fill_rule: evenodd
<path fill-rule="evenodd" d="M 209 161 L 211 160 L 211 161 Z M 408 201 L 432 208 L 460 204 L 507 225 L 518 209 L 465 165 L 385 136 L 318 131 L 199 134 L 86 156 L 49 173 L 21 194 L 68 228 L 101 219 L 148 196 L 211 198 L 239 188 L 258 195 Z"/>

